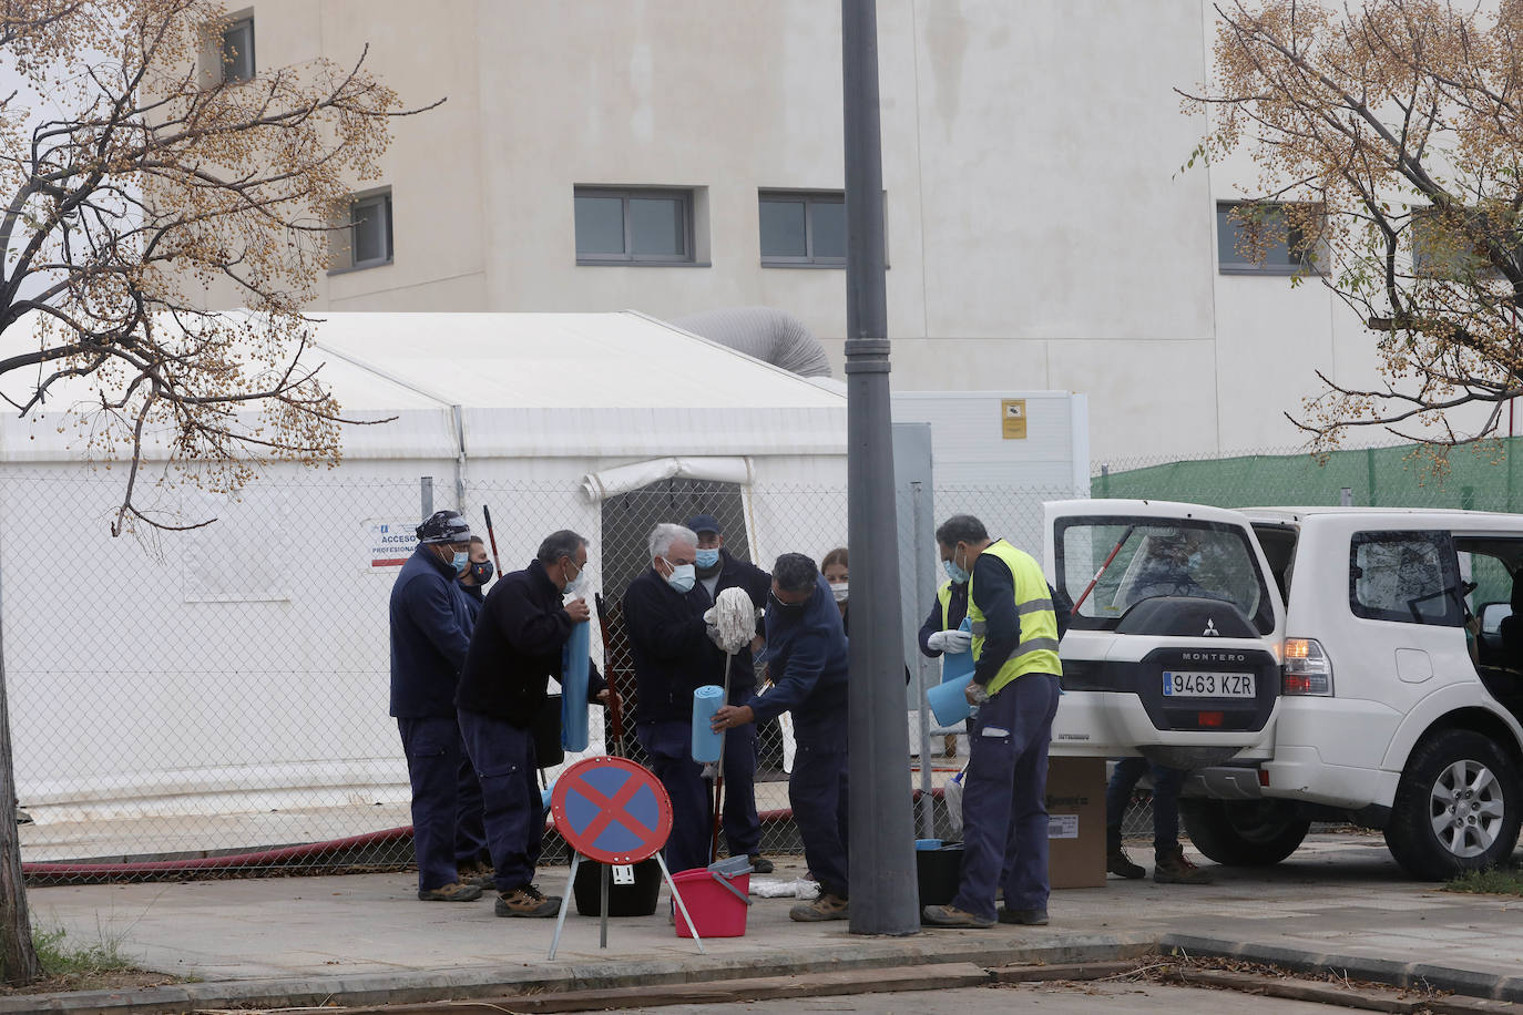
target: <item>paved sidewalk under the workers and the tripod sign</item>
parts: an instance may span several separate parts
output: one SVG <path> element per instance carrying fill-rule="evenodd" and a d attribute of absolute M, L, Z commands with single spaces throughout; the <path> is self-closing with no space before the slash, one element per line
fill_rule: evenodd
<path fill-rule="evenodd" d="M 641 971 L 690 980 L 860 962 L 1095 959 L 1118 948 L 1136 954 L 1157 940 L 1258 957 L 1278 950 L 1302 965 L 1327 957 L 1430 963 L 1473 974 L 1479 985 L 1523 971 L 1523 899 L 1451 895 L 1409 881 L 1378 837 L 1317 835 L 1278 867 L 1212 870 L 1217 884 L 1209 887 L 1112 878 L 1104 889 L 1055 892 L 1049 927 L 909 939 L 793 924 L 790 899 L 755 899 L 746 937 L 705 942 L 707 957 L 675 937 L 664 904 L 658 916 L 614 919 L 606 953 L 597 948 L 597 921 L 573 908 L 554 963 L 545 962 L 553 921 L 495 918 L 490 896 L 419 902 L 407 873 L 47 887 L 29 898 L 41 925 L 62 925 L 82 945 L 117 939 L 123 954 L 149 969 L 207 982 L 300 980 L 334 994 L 387 983 L 399 991 L 442 983 L 585 988 L 627 983 Z M 798 870 L 783 866 L 774 877 L 789 873 Z M 560 893 L 565 877 L 565 867 L 545 870 L 541 889 Z M 1523 982 L 1515 986 L 1523 995 Z"/>

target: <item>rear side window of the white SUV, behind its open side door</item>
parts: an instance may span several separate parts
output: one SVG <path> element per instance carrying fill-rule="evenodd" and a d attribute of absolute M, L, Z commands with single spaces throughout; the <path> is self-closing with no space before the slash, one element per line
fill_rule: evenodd
<path fill-rule="evenodd" d="M 1354 616 L 1461 627 L 1465 586 L 1448 533 L 1354 533 L 1348 604 Z"/>

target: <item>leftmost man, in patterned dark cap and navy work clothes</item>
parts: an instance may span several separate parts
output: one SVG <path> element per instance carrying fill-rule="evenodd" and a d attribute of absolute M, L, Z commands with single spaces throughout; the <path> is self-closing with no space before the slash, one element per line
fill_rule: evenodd
<path fill-rule="evenodd" d="M 457 578 L 469 565 L 471 527 L 436 511 L 391 586 L 391 715 L 413 784 L 417 898 L 469 902 L 489 872 L 481 784 L 455 720 L 455 685 L 471 647 L 472 610 Z"/>

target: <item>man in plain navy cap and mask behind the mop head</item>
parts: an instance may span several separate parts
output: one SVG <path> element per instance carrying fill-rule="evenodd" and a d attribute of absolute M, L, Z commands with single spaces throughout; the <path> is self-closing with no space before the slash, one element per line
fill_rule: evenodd
<path fill-rule="evenodd" d="M 713 514 L 694 514 L 687 528 L 698 534 L 698 581 L 708 589 L 714 603 L 725 589 L 745 589 L 751 606 L 766 607 L 772 575 L 755 565 L 737 560 L 725 549 L 725 534 Z M 730 700 L 745 705 L 755 691 L 755 662 L 751 648 L 742 648 L 730 660 Z M 757 727 L 737 726 L 725 737 L 725 810 L 720 816 L 725 845 L 731 857 L 751 857 L 751 869 L 772 873 L 772 861 L 762 855 L 762 820 L 757 817 Z"/>

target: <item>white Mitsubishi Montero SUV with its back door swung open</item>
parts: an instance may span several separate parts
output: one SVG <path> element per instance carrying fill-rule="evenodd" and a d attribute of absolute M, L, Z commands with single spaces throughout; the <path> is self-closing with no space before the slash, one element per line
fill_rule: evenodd
<path fill-rule="evenodd" d="M 1054 753 L 1189 768 L 1220 863 L 1278 863 L 1314 819 L 1383 829 L 1419 878 L 1512 854 L 1523 517 L 1062 501 L 1046 534 L 1075 603 Z"/>

